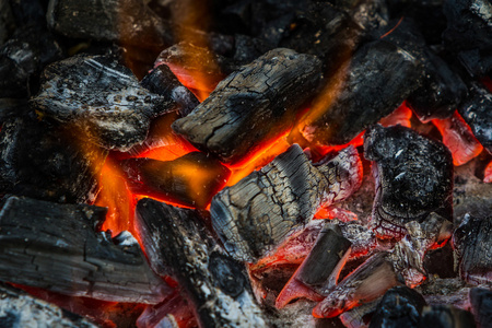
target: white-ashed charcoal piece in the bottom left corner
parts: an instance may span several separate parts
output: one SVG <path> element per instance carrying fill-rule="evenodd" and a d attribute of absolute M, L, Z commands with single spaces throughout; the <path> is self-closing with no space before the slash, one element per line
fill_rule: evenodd
<path fill-rule="evenodd" d="M 0 327 L 96 328 L 82 317 L 9 286 L 0 285 Z"/>

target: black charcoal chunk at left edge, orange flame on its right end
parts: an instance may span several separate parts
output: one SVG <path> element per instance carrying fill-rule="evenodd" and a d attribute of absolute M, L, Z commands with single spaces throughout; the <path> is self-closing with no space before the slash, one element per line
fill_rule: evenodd
<path fill-rule="evenodd" d="M 93 202 L 107 151 L 84 145 L 77 129 L 11 118 L 0 132 L 0 192 L 57 202 Z"/>

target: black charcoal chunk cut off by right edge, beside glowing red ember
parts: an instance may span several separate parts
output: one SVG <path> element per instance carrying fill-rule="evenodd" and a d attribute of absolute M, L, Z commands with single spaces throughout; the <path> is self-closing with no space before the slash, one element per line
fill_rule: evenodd
<path fill-rule="evenodd" d="M 478 83 L 471 85 L 469 93 L 458 112 L 478 141 L 492 154 L 492 94 Z"/>

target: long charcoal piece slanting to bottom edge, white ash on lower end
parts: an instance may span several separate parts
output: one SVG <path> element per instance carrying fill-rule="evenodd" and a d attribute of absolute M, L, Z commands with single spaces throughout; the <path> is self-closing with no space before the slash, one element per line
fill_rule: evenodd
<path fill-rule="evenodd" d="M 244 263 L 222 250 L 199 212 L 147 198 L 136 216 L 152 268 L 177 280 L 200 327 L 266 326 Z"/>

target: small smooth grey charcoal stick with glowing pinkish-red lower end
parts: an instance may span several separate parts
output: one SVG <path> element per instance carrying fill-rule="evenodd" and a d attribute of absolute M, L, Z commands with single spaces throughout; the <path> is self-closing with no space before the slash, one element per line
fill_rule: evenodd
<path fill-rule="evenodd" d="M 336 285 L 351 245 L 339 226 L 326 224 L 309 255 L 280 292 L 276 307 L 282 308 L 297 297 L 321 301 L 321 295 Z"/>

